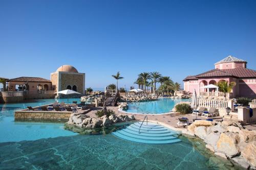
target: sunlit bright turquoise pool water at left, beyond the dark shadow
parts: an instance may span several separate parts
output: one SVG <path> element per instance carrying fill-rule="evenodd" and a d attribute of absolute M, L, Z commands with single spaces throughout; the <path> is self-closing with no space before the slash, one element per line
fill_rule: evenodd
<path fill-rule="evenodd" d="M 36 140 L 41 138 L 70 136 L 76 133 L 63 130 L 63 124 L 14 122 L 14 111 L 27 106 L 41 106 L 54 103 L 55 99 L 34 100 L 17 104 L 0 104 L 0 142 Z M 80 102 L 80 99 L 58 99 L 58 102 Z"/>

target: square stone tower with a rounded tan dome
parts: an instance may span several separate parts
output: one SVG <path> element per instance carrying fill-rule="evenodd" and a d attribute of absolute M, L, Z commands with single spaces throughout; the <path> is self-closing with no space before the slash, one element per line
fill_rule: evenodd
<path fill-rule="evenodd" d="M 56 91 L 70 89 L 85 94 L 85 81 L 86 74 L 72 65 L 62 65 L 51 74 L 52 88 Z"/>

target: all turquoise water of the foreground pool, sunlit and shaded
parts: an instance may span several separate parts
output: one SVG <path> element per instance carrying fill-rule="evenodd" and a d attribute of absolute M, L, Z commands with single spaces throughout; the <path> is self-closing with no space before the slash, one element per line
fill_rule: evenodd
<path fill-rule="evenodd" d="M 242 169 L 206 151 L 200 139 L 145 144 L 111 128 L 80 135 L 63 124 L 14 122 L 14 110 L 53 102 L 0 105 L 0 169 Z"/>

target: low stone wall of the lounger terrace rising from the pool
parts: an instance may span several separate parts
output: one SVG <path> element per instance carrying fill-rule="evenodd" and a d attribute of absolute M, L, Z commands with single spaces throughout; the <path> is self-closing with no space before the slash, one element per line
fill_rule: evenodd
<path fill-rule="evenodd" d="M 28 121 L 28 120 L 63 120 L 67 122 L 72 112 L 68 111 L 28 111 L 20 110 L 16 111 L 14 114 L 15 121 Z"/>

